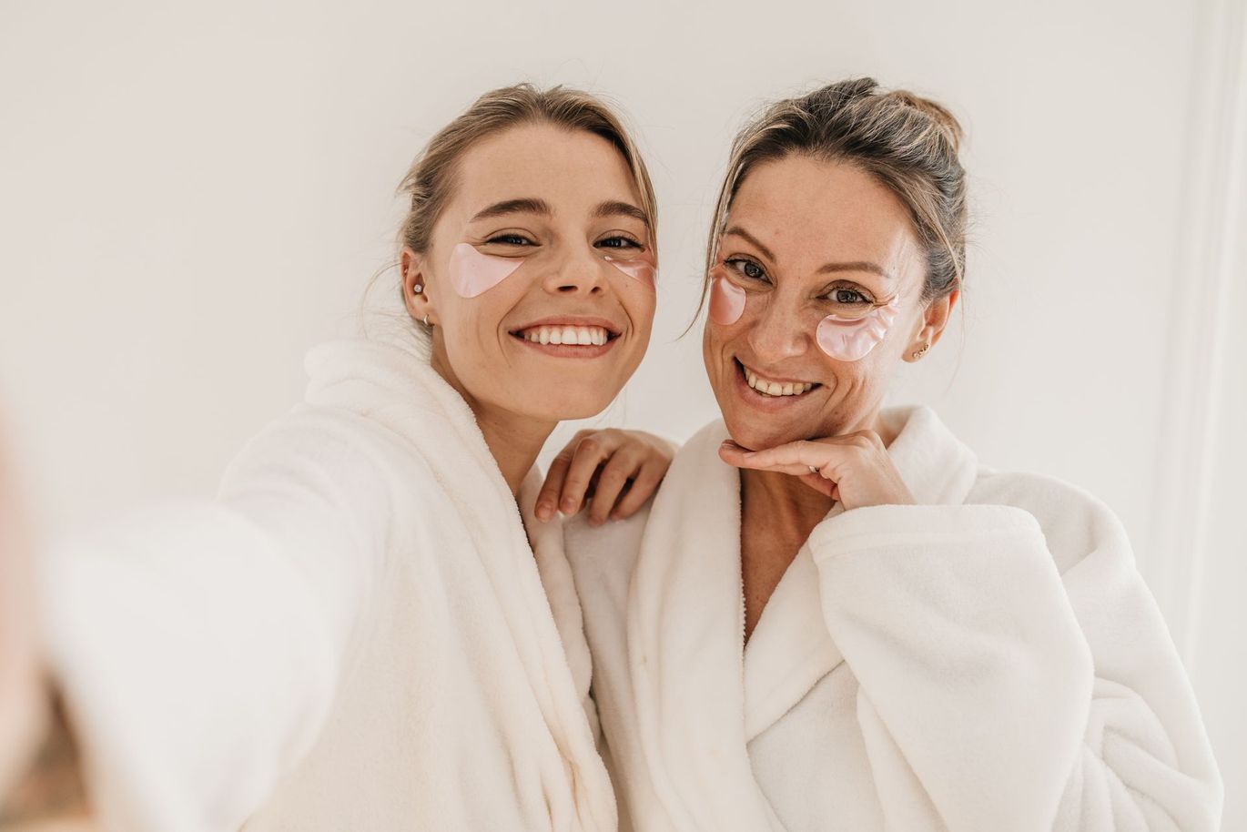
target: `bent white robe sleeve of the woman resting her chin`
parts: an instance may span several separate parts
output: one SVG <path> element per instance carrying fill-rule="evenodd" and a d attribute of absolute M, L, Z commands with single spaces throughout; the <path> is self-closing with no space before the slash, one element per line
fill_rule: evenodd
<path fill-rule="evenodd" d="M 1040 490 L 811 536 L 888 828 L 1215 831 L 1207 733 L 1120 523 Z"/>

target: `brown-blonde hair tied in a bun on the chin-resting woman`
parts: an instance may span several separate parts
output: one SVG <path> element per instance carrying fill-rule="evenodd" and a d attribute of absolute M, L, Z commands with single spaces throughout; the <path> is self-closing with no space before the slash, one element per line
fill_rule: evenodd
<path fill-rule="evenodd" d="M 968 221 L 960 142 L 961 127 L 943 106 L 904 90 L 884 91 L 868 77 L 767 106 L 732 142 L 706 248 L 701 306 L 718 239 L 744 177 L 761 162 L 792 155 L 845 162 L 874 176 L 908 208 L 923 246 L 923 302 L 959 289 Z"/>

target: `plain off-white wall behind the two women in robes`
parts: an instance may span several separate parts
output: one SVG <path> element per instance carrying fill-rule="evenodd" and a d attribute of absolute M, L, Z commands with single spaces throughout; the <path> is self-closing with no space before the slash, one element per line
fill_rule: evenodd
<path fill-rule="evenodd" d="M 357 331 L 412 157 L 519 80 L 605 94 L 638 132 L 660 311 L 594 424 L 688 437 L 716 408 L 700 324 L 678 336 L 732 133 L 872 75 L 961 119 L 975 215 L 964 314 L 894 398 L 1116 510 L 1247 828 L 1243 9 L 0 0 L 0 410 L 30 499 L 57 534 L 209 494 L 307 347 Z"/>

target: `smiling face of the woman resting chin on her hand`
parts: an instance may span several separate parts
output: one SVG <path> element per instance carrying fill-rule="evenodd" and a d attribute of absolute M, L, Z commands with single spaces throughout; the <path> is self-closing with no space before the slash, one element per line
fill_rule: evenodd
<path fill-rule="evenodd" d="M 751 170 L 711 278 L 703 356 L 732 438 L 761 449 L 875 428 L 900 360 L 956 293 L 923 303 L 905 206 L 860 168 L 787 156 Z"/>

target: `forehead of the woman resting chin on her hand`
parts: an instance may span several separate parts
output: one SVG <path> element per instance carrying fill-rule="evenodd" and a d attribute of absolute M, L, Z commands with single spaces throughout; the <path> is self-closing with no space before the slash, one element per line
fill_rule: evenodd
<path fill-rule="evenodd" d="M 835 261 L 897 268 L 918 252 L 909 213 L 892 191 L 859 167 L 804 156 L 751 170 L 732 201 L 733 226 L 793 268 Z"/>

